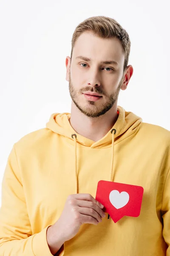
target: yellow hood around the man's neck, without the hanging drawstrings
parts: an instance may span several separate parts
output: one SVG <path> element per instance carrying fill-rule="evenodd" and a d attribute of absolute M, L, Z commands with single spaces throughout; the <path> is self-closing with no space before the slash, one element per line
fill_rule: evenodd
<path fill-rule="evenodd" d="M 124 140 L 126 137 L 133 134 L 140 123 L 142 122 L 142 118 L 136 116 L 132 112 L 125 111 L 124 108 L 121 106 L 117 106 L 119 111 L 119 116 L 116 123 L 113 125 L 110 131 L 102 137 L 102 139 L 94 142 L 91 139 L 88 139 L 77 132 L 72 128 L 69 119 L 71 117 L 71 113 L 53 113 L 47 122 L 46 127 L 51 131 L 60 134 L 62 136 L 67 137 L 70 140 L 74 140 L 71 135 L 76 134 L 76 141 L 78 146 L 88 146 L 91 148 L 101 148 L 101 147 L 108 147 L 109 144 L 112 143 L 112 129 L 116 130 L 114 134 L 114 142 L 118 143 L 121 140 Z"/>

